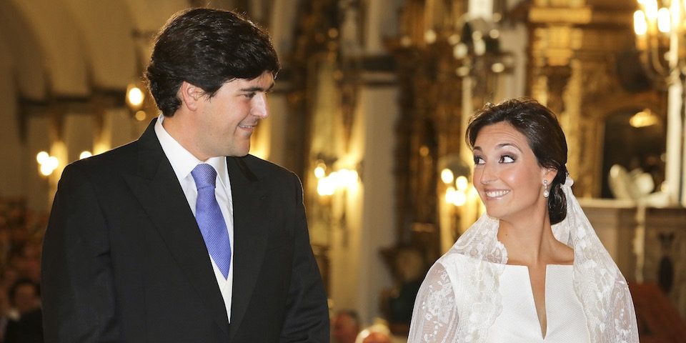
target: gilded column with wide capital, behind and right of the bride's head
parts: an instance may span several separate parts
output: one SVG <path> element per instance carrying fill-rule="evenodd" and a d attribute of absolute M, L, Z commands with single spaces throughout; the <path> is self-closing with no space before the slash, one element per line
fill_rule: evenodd
<path fill-rule="evenodd" d="M 665 113 L 662 91 L 636 88 L 633 1 L 532 1 L 527 94 L 552 109 L 567 135 L 577 197 L 601 197 L 605 123 L 618 111 Z M 633 68 L 633 69 L 631 69 Z M 664 122 L 664 115 L 662 115 Z"/>

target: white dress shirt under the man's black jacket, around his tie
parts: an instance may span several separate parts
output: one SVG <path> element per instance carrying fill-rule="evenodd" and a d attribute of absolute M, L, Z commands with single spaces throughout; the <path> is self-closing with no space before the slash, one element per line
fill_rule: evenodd
<path fill-rule="evenodd" d="M 193 215 L 195 215 L 195 202 L 198 197 L 198 190 L 195 185 L 195 180 L 191 175 L 192 170 L 200 163 L 207 163 L 214 167 L 217 171 L 217 187 L 214 189 L 214 194 L 217 197 L 217 202 L 219 203 L 219 208 L 222 209 L 222 215 L 224 216 L 224 222 L 227 223 L 227 230 L 229 231 L 229 244 L 231 244 L 231 266 L 229 267 L 229 276 L 224 279 L 224 275 L 214 263 L 214 259 L 210 254 L 207 254 L 209 258 L 209 263 L 212 263 L 212 269 L 214 269 L 214 277 L 217 278 L 217 285 L 219 290 L 222 292 L 222 297 L 224 298 L 224 304 L 227 307 L 227 317 L 229 318 L 229 323 L 231 322 L 231 296 L 232 296 L 232 285 L 234 279 L 234 215 L 231 199 L 231 183 L 229 183 L 229 169 L 227 166 L 227 158 L 225 156 L 217 156 L 207 159 L 207 161 L 200 161 L 193 154 L 191 154 L 187 149 L 184 149 L 181 144 L 179 144 L 174 137 L 169 135 L 169 132 L 162 126 L 162 121 L 164 121 L 164 115 L 158 117 L 155 123 L 155 134 L 157 139 L 159 139 L 159 144 L 162 146 L 162 150 L 169 159 L 169 163 L 172 164 L 174 169 L 174 174 L 177 174 L 179 179 L 179 184 L 184 190 L 186 199 L 188 201 L 189 207 Z"/>

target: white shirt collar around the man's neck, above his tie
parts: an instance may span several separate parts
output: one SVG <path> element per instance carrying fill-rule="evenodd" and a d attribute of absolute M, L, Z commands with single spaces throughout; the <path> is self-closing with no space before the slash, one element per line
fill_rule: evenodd
<path fill-rule="evenodd" d="M 207 161 L 200 161 L 164 129 L 162 121 L 164 121 L 164 115 L 160 114 L 155 123 L 155 134 L 157 139 L 159 139 L 159 144 L 162 146 L 166 158 L 172 164 L 172 169 L 174 169 L 174 174 L 177 175 L 179 183 L 191 174 L 195 166 L 207 163 L 214 167 L 219 176 L 219 182 L 222 182 L 222 186 L 226 188 L 229 185 L 227 158 L 225 156 L 216 156 L 210 157 Z"/>

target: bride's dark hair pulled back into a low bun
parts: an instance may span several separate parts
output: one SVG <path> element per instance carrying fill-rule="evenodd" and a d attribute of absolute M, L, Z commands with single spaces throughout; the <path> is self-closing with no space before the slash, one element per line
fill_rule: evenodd
<path fill-rule="evenodd" d="M 557 116 L 534 99 L 509 99 L 499 104 L 486 104 L 469 118 L 465 135 L 469 148 L 474 148 L 474 141 L 484 126 L 503 121 L 527 137 L 540 166 L 557 169 L 557 176 L 550 184 L 548 215 L 551 224 L 562 222 L 567 217 L 567 199 L 560 188 L 567 178 L 567 139 Z"/>

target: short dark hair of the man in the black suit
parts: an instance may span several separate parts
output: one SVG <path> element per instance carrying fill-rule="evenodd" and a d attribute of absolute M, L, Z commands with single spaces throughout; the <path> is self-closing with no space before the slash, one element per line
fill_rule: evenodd
<path fill-rule="evenodd" d="M 264 71 L 279 71 L 266 31 L 231 11 L 187 9 L 157 34 L 145 79 L 162 114 L 173 116 L 183 81 L 211 98 L 227 81 L 254 79 Z"/>

